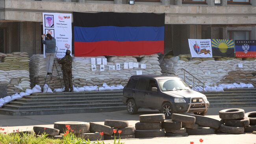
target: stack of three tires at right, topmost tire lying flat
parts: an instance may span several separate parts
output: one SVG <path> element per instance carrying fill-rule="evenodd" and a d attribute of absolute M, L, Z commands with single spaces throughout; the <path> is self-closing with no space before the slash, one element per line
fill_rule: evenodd
<path fill-rule="evenodd" d="M 219 117 L 221 118 L 219 131 L 222 133 L 244 133 L 245 127 L 248 127 L 250 122 L 249 118 L 245 116 L 245 111 L 239 108 L 221 110 Z"/>

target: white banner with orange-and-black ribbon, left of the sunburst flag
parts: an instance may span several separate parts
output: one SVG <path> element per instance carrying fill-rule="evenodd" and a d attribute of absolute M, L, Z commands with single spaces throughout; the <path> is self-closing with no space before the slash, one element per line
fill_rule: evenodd
<path fill-rule="evenodd" d="M 212 58 L 211 39 L 188 39 L 192 58 Z"/>

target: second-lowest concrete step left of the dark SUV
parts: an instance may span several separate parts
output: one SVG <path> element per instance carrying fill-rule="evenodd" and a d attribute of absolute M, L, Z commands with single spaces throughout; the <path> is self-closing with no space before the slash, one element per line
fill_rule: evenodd
<path fill-rule="evenodd" d="M 65 104 L 65 105 L 69 105 L 69 104 L 102 104 L 102 103 L 122 103 L 122 99 L 108 99 L 108 100 L 86 100 L 86 101 L 48 101 L 48 102 L 34 102 L 34 103 L 23 103 L 23 102 L 19 102 L 19 101 L 14 101 L 11 102 L 9 104 L 11 105 L 16 105 L 16 106 L 41 106 L 41 105 L 59 105 L 59 104 Z"/>

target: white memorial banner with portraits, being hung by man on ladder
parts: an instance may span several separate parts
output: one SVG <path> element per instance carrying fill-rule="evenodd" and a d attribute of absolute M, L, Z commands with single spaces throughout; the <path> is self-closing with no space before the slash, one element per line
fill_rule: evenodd
<path fill-rule="evenodd" d="M 57 58 L 63 58 L 66 50 L 72 54 L 72 25 L 69 13 L 43 13 L 43 34 L 51 34 L 56 39 Z M 45 58 L 45 45 L 44 45 Z"/>

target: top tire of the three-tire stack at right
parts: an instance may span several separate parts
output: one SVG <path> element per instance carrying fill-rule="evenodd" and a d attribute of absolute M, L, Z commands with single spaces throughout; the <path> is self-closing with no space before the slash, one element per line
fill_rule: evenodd
<path fill-rule="evenodd" d="M 221 119 L 242 119 L 245 116 L 245 110 L 240 108 L 230 108 L 219 111 Z"/>

